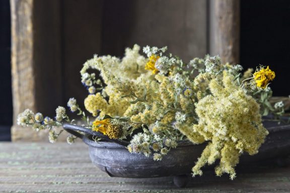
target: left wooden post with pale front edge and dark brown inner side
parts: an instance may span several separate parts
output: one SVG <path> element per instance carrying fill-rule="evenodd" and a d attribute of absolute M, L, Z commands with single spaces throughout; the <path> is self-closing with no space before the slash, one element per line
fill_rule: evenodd
<path fill-rule="evenodd" d="M 19 127 L 25 109 L 53 116 L 61 104 L 61 49 L 58 0 L 11 0 L 12 21 L 12 140 L 39 141 L 43 132 Z"/>

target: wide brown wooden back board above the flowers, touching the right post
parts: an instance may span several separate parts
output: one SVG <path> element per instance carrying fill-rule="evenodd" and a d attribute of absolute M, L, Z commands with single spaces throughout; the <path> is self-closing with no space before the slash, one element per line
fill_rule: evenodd
<path fill-rule="evenodd" d="M 106 0 L 102 54 L 123 56 L 125 47 L 138 44 L 168 46 L 185 62 L 204 57 L 208 53 L 206 9 L 207 1 L 199 0 Z"/>

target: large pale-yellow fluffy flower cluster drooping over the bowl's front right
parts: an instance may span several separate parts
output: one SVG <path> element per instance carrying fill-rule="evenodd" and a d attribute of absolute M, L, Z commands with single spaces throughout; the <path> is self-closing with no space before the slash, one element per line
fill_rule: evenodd
<path fill-rule="evenodd" d="M 234 76 L 224 71 L 223 79 L 211 80 L 209 88 L 212 95 L 205 96 L 196 105 L 198 124 L 176 126 L 193 143 L 210 141 L 192 169 L 194 175 L 202 174 L 200 168 L 206 163 L 220 159 L 216 174 L 226 172 L 233 179 L 240 154 L 256 154 L 268 131 L 263 127 L 259 105 L 235 84 Z"/>

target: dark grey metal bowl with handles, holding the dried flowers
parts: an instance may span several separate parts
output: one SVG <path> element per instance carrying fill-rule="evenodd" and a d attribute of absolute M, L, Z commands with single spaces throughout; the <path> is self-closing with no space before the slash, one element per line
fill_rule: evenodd
<path fill-rule="evenodd" d="M 290 154 L 290 125 L 277 125 L 276 122 L 269 121 L 264 122 L 264 125 L 269 131 L 265 143 L 258 154 L 241 156 L 241 164 Z M 146 178 L 188 174 L 206 146 L 206 144 L 193 145 L 189 141 L 181 141 L 177 148 L 171 149 L 164 156 L 162 161 L 154 161 L 153 155 L 145 157 L 130 153 L 126 148 L 128 142 L 108 139 L 99 132 L 81 126 L 64 124 L 63 128 L 82 138 L 89 146 L 92 162 L 113 177 Z M 92 136 L 105 137 L 110 141 L 95 142 Z"/>

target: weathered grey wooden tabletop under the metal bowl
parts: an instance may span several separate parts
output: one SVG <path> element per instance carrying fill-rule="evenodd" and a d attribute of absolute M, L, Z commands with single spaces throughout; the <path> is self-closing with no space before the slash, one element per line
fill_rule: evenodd
<path fill-rule="evenodd" d="M 177 188 L 173 177 L 109 177 L 83 143 L 0 143 L 0 192 L 290 192 L 290 167 L 240 169 L 237 178 L 207 171 Z"/>

